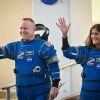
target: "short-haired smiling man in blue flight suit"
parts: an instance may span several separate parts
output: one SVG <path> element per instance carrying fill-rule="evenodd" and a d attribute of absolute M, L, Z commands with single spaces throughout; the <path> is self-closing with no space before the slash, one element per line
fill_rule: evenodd
<path fill-rule="evenodd" d="M 18 100 L 47 100 L 57 97 L 60 71 L 54 46 L 35 36 L 36 25 L 31 18 L 23 18 L 21 41 L 0 47 L 0 59 L 15 61 Z M 51 84 L 52 83 L 52 84 Z"/>

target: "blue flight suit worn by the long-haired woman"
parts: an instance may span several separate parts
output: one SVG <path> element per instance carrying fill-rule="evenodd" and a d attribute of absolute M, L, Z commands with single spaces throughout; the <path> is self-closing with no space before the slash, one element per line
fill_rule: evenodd
<path fill-rule="evenodd" d="M 63 50 L 63 55 L 83 67 L 80 99 L 100 100 L 100 49 L 71 46 Z"/>

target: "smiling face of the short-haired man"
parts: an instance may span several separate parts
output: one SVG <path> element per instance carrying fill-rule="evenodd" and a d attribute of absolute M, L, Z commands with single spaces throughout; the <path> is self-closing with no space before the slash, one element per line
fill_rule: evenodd
<path fill-rule="evenodd" d="M 20 25 L 20 36 L 23 40 L 33 40 L 35 38 L 35 24 L 30 21 L 22 21 Z"/>

